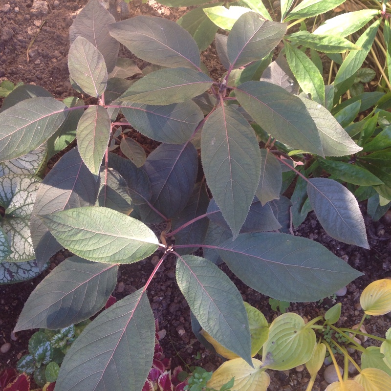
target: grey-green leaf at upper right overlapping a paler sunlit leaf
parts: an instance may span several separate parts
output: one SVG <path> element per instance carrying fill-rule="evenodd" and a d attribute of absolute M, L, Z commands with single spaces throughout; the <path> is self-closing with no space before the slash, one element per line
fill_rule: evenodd
<path fill-rule="evenodd" d="M 264 130 L 292 148 L 323 156 L 315 122 L 301 99 L 267 82 L 246 82 L 235 90 L 243 108 Z"/>

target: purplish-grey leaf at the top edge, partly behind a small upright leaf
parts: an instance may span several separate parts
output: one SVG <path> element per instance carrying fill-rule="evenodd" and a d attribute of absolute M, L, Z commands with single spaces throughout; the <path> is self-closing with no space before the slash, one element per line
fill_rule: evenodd
<path fill-rule="evenodd" d="M 118 57 L 119 43 L 110 36 L 108 25 L 114 17 L 100 1 L 90 0 L 80 11 L 69 29 L 69 41 L 79 36 L 86 38 L 103 55 L 108 72 L 114 69 Z"/>

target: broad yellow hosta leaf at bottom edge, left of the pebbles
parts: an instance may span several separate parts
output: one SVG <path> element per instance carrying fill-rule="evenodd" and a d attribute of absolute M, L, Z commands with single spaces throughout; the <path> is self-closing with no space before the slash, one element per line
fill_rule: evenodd
<path fill-rule="evenodd" d="M 251 368 L 242 358 L 235 358 L 223 363 L 208 381 L 207 387 L 219 390 L 222 385 L 235 377 L 231 391 L 266 391 L 270 384 L 269 375 L 260 367 L 262 362 L 252 359 Z"/>

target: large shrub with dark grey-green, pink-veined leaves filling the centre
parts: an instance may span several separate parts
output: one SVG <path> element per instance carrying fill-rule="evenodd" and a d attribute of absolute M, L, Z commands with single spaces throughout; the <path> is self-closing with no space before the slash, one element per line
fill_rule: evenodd
<path fill-rule="evenodd" d="M 235 70 L 268 55 L 286 27 L 256 12 L 242 15 L 220 42 L 227 73 L 215 81 L 178 24 L 147 16 L 114 22 L 90 0 L 70 29 L 68 67 L 92 104 L 61 102 L 38 89 L 36 97 L 22 90 L 5 99 L 0 161 L 44 142 L 51 156 L 77 139 L 39 184 L 29 220 L 37 264 L 62 247 L 74 256 L 35 288 L 15 331 L 90 318 L 114 290 L 119 264 L 159 257 L 146 284 L 96 316 L 67 351 L 56 391 L 142 390 L 155 335 L 147 289 L 168 257 L 177 260 L 193 323 L 250 367 L 246 307 L 217 263 L 287 302 L 319 300 L 361 275 L 319 243 L 285 233 L 291 201 L 281 195 L 283 175 L 299 175 L 326 232 L 368 248 L 354 195 L 332 179 L 305 177 L 302 162 L 286 152 L 326 157 L 361 148 L 323 99 L 292 92 L 282 57 L 261 81 L 229 82 Z M 129 59 L 117 59 L 120 43 L 153 65 L 144 76 Z M 137 81 L 127 79 L 134 74 Z M 125 119 L 117 120 L 119 112 Z M 130 126 L 160 145 L 147 156 Z M 268 135 L 266 145 L 258 134 Z M 110 152 L 118 146 L 128 159 Z M 148 226 L 156 223 L 164 224 L 159 238 Z M 200 247 L 203 257 L 192 255 Z"/>

